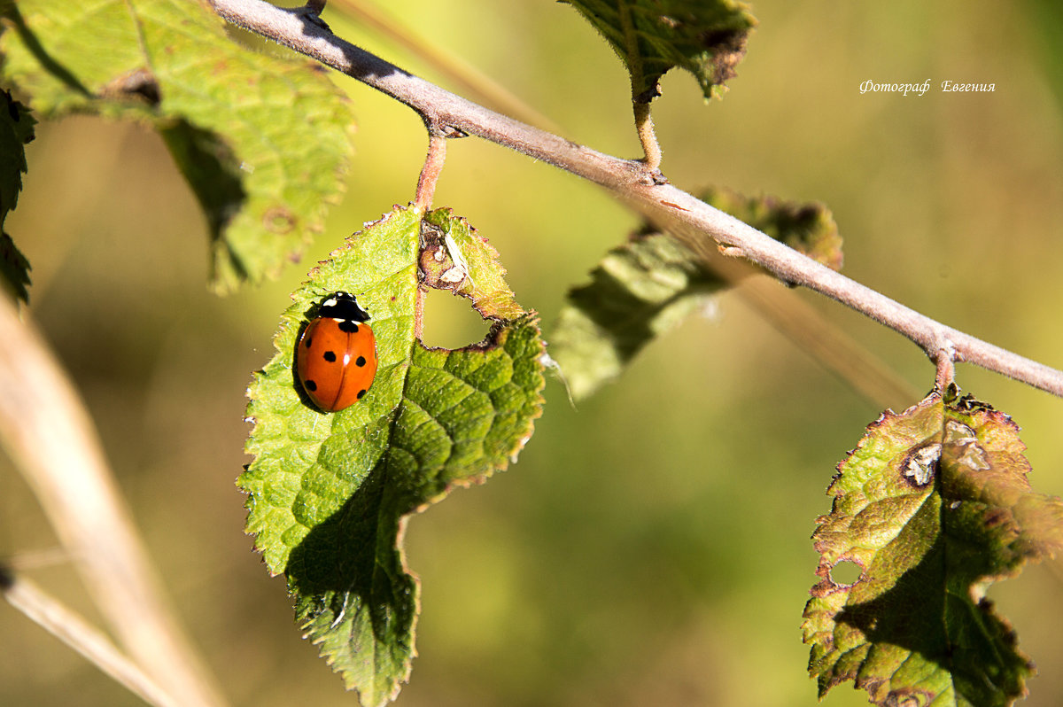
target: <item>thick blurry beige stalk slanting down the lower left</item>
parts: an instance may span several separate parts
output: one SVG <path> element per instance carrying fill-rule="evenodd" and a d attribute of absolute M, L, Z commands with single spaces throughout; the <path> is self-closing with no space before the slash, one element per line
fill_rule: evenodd
<path fill-rule="evenodd" d="M 167 606 L 84 404 L 23 319 L 0 297 L 0 442 L 130 656 L 181 705 L 224 704 Z"/>

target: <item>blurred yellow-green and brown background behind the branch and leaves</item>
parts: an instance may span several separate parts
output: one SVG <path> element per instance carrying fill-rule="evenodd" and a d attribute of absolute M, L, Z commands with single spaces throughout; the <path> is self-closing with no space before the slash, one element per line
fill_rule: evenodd
<path fill-rule="evenodd" d="M 850 276 L 1063 367 L 1063 60 L 1047 15 L 958 0 L 753 10 L 760 27 L 723 101 L 706 105 L 691 77 L 665 77 L 655 119 L 671 181 L 823 201 Z M 638 155 L 626 74 L 570 7 L 394 0 L 390 12 L 567 137 Z M 450 86 L 335 10 L 325 18 Z M 861 95 L 867 79 L 933 88 Z M 946 79 L 996 91 L 942 94 Z M 207 292 L 203 219 L 161 140 L 136 128 L 40 125 L 7 222 L 34 268 L 29 312 L 95 416 L 170 594 L 234 705 L 354 704 L 300 639 L 283 580 L 252 553 L 234 486 L 247 462 L 243 390 L 271 355 L 287 292 L 345 235 L 410 200 L 424 155 L 416 115 L 338 82 L 359 120 L 349 193 L 303 262 L 259 290 Z M 491 239 L 520 301 L 547 324 L 566 289 L 637 224 L 598 188 L 476 139 L 451 142 L 436 204 Z M 796 296 L 930 388 L 932 366 L 912 344 Z M 482 337 L 462 302 L 429 297 L 429 343 Z M 1035 488 L 1063 494 L 1063 401 L 972 367 L 958 380 L 1014 417 Z M 577 408 L 556 380 L 546 397 L 518 465 L 410 522 L 423 613 L 398 704 L 816 704 L 799 632 L 816 561 L 808 538 L 829 510 L 834 465 L 879 408 L 732 296 Z M 0 556 L 55 543 L 0 456 Z M 98 620 L 69 565 L 31 576 Z M 1042 565 L 991 592 L 1041 669 L 1031 706 L 1063 704 L 1061 577 Z M 139 704 L 5 605 L 0 636 L 2 705 Z M 826 704 L 865 698 L 843 686 Z"/>

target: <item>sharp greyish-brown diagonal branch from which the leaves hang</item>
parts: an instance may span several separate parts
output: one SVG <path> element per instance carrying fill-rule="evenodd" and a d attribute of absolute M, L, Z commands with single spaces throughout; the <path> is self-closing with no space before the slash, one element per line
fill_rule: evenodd
<path fill-rule="evenodd" d="M 841 302 L 911 339 L 931 358 L 951 347 L 976 364 L 1063 397 L 1063 371 L 957 331 L 794 251 L 670 184 L 654 170 L 525 125 L 403 71 L 331 32 L 261 0 L 210 0 L 223 18 L 331 66 L 417 111 L 426 121 L 508 147 L 611 191 L 705 258 L 741 254 L 782 282 Z"/>

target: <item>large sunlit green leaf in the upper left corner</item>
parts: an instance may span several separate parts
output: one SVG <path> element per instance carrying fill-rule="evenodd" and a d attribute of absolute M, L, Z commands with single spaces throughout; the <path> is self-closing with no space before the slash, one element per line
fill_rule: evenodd
<path fill-rule="evenodd" d="M 4 80 L 39 114 L 159 132 L 206 216 L 217 289 L 276 274 L 322 230 L 354 121 L 314 63 L 239 46 L 199 2 L 20 0 L 4 16 Z"/>

